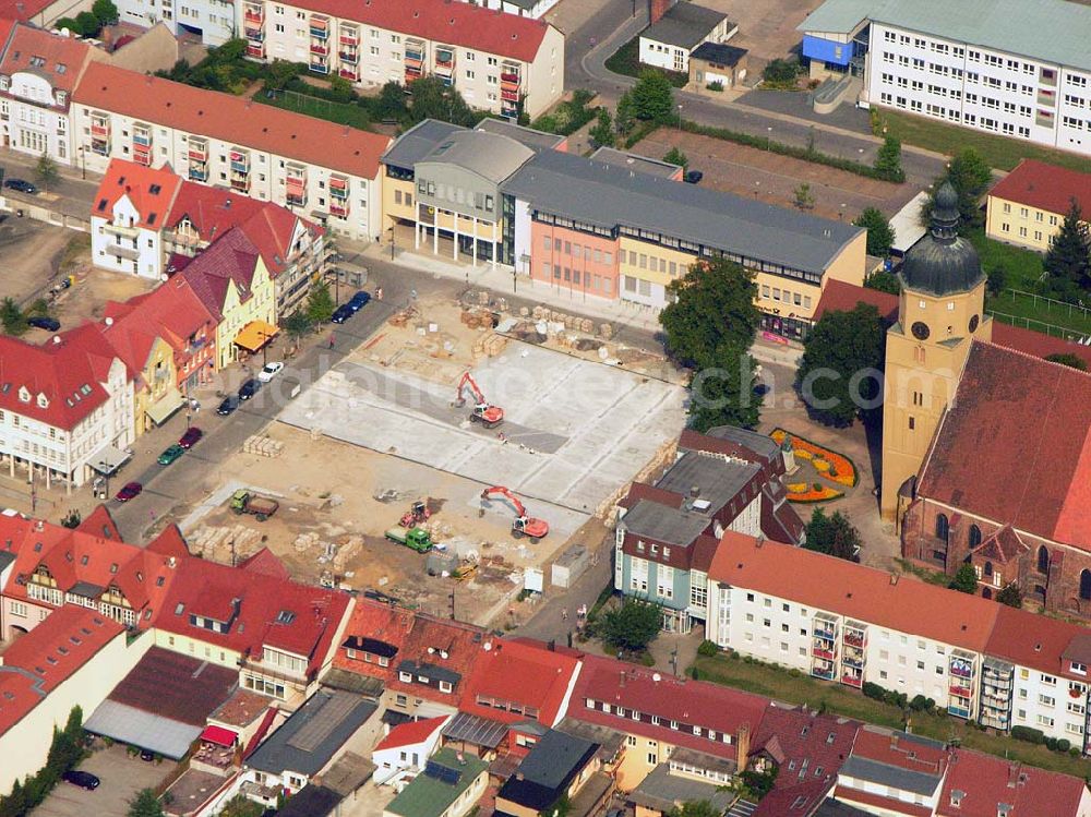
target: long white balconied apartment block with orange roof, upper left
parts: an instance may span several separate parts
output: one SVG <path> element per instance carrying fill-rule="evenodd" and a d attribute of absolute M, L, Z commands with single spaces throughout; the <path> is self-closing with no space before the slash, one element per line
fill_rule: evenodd
<path fill-rule="evenodd" d="M 274 202 L 334 233 L 379 237 L 389 139 L 252 100 L 95 63 L 74 99 L 87 168 L 169 165 L 184 179 Z M 259 105 L 259 107 L 254 107 Z"/>

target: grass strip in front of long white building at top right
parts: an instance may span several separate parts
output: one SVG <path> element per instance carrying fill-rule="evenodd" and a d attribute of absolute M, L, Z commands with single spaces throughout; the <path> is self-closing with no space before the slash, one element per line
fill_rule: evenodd
<path fill-rule="evenodd" d="M 1051 165 L 1060 165 L 1082 172 L 1091 172 L 1091 159 L 1064 151 L 1041 147 L 1032 142 L 994 136 L 981 131 L 945 124 L 934 119 L 914 117 L 886 108 L 879 116 L 888 128 L 888 133 L 908 145 L 916 145 L 928 151 L 951 155 L 962 147 L 973 147 L 993 167 L 1012 170 L 1020 159 L 1041 159 Z"/>

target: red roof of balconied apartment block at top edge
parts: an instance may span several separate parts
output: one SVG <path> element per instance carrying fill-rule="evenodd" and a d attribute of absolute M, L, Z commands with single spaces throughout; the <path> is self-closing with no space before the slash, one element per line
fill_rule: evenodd
<path fill-rule="evenodd" d="M 376 28 L 533 62 L 549 25 L 446 0 L 292 0 L 293 7 Z"/>

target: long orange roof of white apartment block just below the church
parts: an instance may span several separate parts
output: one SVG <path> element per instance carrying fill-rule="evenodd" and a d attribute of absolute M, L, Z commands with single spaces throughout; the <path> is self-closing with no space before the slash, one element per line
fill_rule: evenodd
<path fill-rule="evenodd" d="M 709 578 L 983 651 L 995 602 L 824 553 L 727 531 Z"/>

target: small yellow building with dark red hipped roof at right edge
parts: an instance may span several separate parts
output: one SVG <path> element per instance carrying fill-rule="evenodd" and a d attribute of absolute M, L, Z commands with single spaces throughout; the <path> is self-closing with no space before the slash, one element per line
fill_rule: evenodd
<path fill-rule="evenodd" d="M 1023 159 L 988 191 L 985 235 L 1044 253 L 1074 202 L 1091 224 L 1091 173 Z"/>

